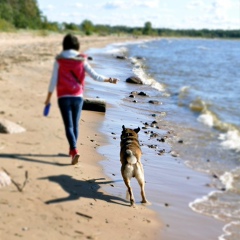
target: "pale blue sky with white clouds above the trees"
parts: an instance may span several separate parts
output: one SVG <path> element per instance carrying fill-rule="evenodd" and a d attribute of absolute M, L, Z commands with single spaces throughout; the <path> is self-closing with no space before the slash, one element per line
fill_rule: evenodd
<path fill-rule="evenodd" d="M 49 21 L 171 29 L 240 29 L 240 0 L 37 0 Z"/>

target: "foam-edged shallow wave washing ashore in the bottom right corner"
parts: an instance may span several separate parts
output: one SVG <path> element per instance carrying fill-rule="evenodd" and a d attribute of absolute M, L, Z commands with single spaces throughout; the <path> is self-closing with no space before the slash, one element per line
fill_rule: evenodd
<path fill-rule="evenodd" d="M 240 239 L 240 167 L 223 173 L 219 180 L 225 191 L 212 191 L 189 203 L 189 207 L 195 212 L 227 222 L 219 240 Z"/>

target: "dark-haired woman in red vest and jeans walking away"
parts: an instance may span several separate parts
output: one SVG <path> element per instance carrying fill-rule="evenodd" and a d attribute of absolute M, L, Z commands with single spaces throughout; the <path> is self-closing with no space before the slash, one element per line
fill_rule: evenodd
<path fill-rule="evenodd" d="M 80 43 L 76 36 L 67 34 L 62 45 L 63 50 L 54 62 L 45 105 L 50 104 L 52 93 L 56 88 L 58 106 L 69 143 L 69 155 L 71 156 L 71 163 L 75 165 L 78 163 L 80 156 L 77 149 L 77 140 L 78 125 L 83 107 L 85 73 L 88 73 L 96 81 L 117 83 L 118 80 L 107 78 L 94 71 L 86 56 L 79 53 Z"/>

